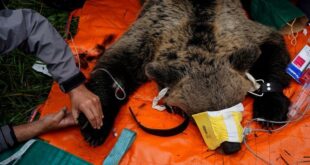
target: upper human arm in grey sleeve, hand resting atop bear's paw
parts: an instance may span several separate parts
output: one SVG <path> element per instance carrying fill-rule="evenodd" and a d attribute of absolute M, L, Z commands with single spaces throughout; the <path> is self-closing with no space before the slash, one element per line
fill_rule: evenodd
<path fill-rule="evenodd" d="M 70 48 L 48 20 L 33 10 L 5 9 L 0 10 L 0 22 L 0 54 L 24 43 L 47 64 L 62 91 L 70 94 L 74 118 L 83 112 L 94 128 L 100 128 L 100 100 L 85 88 L 85 77 L 76 67 Z"/>

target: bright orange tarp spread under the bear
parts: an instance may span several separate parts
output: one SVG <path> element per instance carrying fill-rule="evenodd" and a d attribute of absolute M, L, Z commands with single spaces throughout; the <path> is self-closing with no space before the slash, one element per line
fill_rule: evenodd
<path fill-rule="evenodd" d="M 79 51 L 92 53 L 96 44 L 104 37 L 114 34 L 120 37 L 135 20 L 140 9 L 138 0 L 88 0 L 83 9 L 75 11 L 80 17 L 78 33 L 71 47 Z M 310 33 L 310 28 L 308 28 Z M 298 36 L 298 45 L 291 46 L 286 38 L 292 57 L 307 43 L 309 38 L 302 33 Z M 75 48 L 73 50 L 75 50 Z M 93 64 L 91 64 L 93 66 Z M 83 70 L 88 75 L 91 68 Z M 286 95 L 292 97 L 300 86 L 292 81 L 286 89 Z M 121 164 L 262 164 L 247 148 L 242 145 L 240 152 L 223 155 L 209 151 L 194 123 L 181 134 L 172 137 L 158 137 L 143 132 L 132 119 L 128 107 L 131 106 L 138 117 L 149 127 L 170 128 L 183 121 L 178 115 L 158 112 L 151 108 L 151 100 L 157 94 L 156 84 L 149 82 L 142 85 L 129 102 L 121 109 L 115 122 L 114 132 L 120 135 L 123 128 L 137 133 L 132 147 L 123 157 Z M 246 108 L 242 124 L 250 120 L 253 100 L 247 98 L 243 104 Z M 42 116 L 69 106 L 69 97 L 63 94 L 57 84 L 53 84 L 49 97 L 41 109 Z M 248 145 L 262 158 L 275 164 L 285 164 L 302 160 L 310 156 L 310 118 L 306 115 L 302 120 L 289 124 L 276 133 L 256 133 L 248 136 Z M 252 127 L 258 127 L 256 123 Z M 80 134 L 79 128 L 67 128 L 41 136 L 50 144 L 64 149 L 86 161 L 101 164 L 114 146 L 118 136 L 110 134 L 106 142 L 96 148 L 90 147 Z M 283 153 L 286 153 L 284 155 Z M 287 154 L 289 153 L 289 154 Z"/>

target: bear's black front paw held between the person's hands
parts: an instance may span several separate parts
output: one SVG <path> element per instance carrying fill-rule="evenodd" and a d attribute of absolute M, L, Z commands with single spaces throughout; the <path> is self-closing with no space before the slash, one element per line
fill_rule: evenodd
<path fill-rule="evenodd" d="M 101 127 L 100 129 L 94 129 L 83 114 L 79 115 L 78 123 L 80 125 L 80 130 L 84 139 L 91 146 L 96 147 L 104 142 L 104 127 Z"/>

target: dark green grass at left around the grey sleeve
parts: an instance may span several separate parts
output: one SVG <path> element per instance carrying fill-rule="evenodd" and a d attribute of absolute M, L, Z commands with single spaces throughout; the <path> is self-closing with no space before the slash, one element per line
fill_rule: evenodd
<path fill-rule="evenodd" d="M 65 37 L 68 13 L 52 9 L 40 0 L 11 0 L 9 9 L 29 8 L 48 18 Z M 73 21 L 76 30 L 77 21 Z M 50 91 L 52 78 L 32 70 L 37 58 L 14 50 L 0 56 L 0 125 L 20 124 L 28 120 L 32 110 L 43 103 Z"/>

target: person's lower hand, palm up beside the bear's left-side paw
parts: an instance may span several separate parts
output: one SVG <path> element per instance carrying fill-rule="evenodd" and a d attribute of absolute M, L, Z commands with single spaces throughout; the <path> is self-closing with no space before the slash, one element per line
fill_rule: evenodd
<path fill-rule="evenodd" d="M 44 116 L 41 120 L 39 120 L 39 122 L 41 122 L 42 125 L 41 133 L 73 126 L 76 124 L 72 113 L 67 112 L 66 108 L 61 109 L 57 113 Z"/>

